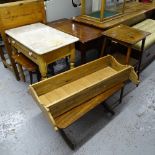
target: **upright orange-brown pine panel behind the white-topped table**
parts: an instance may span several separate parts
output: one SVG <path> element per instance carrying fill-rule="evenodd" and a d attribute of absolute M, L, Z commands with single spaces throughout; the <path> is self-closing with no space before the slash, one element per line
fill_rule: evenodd
<path fill-rule="evenodd" d="M 46 22 L 43 0 L 18 1 L 0 5 L 0 23 L 11 29 L 36 22 Z"/>

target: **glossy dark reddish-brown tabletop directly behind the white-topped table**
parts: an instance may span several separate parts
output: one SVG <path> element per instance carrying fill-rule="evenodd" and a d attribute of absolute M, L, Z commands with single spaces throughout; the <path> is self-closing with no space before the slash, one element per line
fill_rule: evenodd
<path fill-rule="evenodd" d="M 74 22 L 70 19 L 51 22 L 47 25 L 79 38 L 79 41 L 82 43 L 101 37 L 101 32 L 103 31 L 89 25 Z"/>

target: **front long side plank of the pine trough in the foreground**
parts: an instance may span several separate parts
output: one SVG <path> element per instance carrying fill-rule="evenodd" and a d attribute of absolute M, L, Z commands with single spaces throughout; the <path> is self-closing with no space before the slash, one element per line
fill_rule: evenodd
<path fill-rule="evenodd" d="M 128 80 L 130 72 L 131 68 L 127 68 L 111 77 L 104 79 L 103 81 L 90 85 L 81 91 L 75 92 L 74 94 L 63 98 L 61 101 L 46 105 L 46 107 L 50 109 L 53 117 L 57 117 L 80 105 L 81 103 L 97 96 L 98 94 L 103 93 L 107 89 L 112 88 L 114 85 Z"/>

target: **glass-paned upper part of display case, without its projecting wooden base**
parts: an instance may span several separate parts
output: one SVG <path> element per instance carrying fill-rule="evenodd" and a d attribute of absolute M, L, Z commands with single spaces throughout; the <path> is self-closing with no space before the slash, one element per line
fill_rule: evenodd
<path fill-rule="evenodd" d="M 124 13 L 125 0 L 82 0 L 81 16 L 100 21 Z"/>

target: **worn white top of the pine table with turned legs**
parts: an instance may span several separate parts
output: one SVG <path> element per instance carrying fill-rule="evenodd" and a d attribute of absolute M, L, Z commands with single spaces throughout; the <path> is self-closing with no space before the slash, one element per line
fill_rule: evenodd
<path fill-rule="evenodd" d="M 42 23 L 17 27 L 6 30 L 5 33 L 39 55 L 79 40 Z"/>

